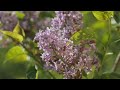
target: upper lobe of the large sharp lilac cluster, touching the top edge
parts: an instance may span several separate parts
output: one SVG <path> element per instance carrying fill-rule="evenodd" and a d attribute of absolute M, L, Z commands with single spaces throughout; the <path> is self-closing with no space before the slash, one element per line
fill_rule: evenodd
<path fill-rule="evenodd" d="M 73 11 L 56 11 L 56 17 L 52 20 L 54 29 L 62 30 L 63 37 L 70 36 L 82 28 L 82 14 Z"/>

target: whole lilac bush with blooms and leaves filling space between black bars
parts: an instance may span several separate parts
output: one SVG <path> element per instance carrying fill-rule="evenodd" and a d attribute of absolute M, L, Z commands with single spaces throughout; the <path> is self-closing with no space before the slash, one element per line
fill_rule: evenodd
<path fill-rule="evenodd" d="M 119 11 L 0 11 L 0 71 L 6 72 L 0 78 L 120 78 L 119 17 Z M 6 77 L 17 71 L 26 73 Z"/>

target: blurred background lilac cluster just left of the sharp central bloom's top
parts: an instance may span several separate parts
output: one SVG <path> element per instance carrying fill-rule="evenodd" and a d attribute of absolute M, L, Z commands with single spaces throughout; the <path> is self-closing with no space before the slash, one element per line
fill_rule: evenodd
<path fill-rule="evenodd" d="M 42 11 L 22 11 L 25 14 L 24 19 L 21 21 L 21 26 L 25 30 L 38 30 L 45 29 L 46 25 L 49 25 L 50 18 L 40 19 Z"/>

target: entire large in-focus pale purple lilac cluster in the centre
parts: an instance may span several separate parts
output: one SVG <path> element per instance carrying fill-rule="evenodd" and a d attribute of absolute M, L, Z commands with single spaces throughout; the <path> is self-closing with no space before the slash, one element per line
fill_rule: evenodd
<path fill-rule="evenodd" d="M 82 78 L 82 70 L 91 71 L 98 64 L 95 55 L 95 42 L 81 41 L 74 45 L 70 40 L 72 34 L 83 26 L 82 14 L 79 11 L 56 11 L 51 26 L 36 34 L 39 49 L 43 50 L 41 58 L 46 69 L 52 69 L 64 78 Z"/>

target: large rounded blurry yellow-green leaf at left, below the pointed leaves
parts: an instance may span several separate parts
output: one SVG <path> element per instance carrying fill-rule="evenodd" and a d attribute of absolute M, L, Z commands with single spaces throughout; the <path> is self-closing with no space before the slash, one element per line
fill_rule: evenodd
<path fill-rule="evenodd" d="M 14 46 L 6 53 L 6 61 L 15 63 L 28 61 L 27 52 L 21 46 Z"/>

